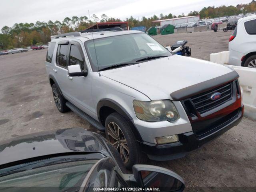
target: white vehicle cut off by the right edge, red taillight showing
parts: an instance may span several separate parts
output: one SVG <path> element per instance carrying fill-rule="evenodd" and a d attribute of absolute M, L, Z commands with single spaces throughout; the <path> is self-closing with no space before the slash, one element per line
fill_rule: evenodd
<path fill-rule="evenodd" d="M 256 68 L 256 15 L 238 20 L 228 50 L 230 65 Z"/>

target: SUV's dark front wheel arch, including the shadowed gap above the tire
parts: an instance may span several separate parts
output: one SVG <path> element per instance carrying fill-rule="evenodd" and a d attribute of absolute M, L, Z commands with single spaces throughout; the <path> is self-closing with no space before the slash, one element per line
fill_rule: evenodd
<path fill-rule="evenodd" d="M 138 132 L 136 126 L 132 122 L 132 117 L 126 111 L 126 109 L 122 107 L 122 105 L 118 104 L 116 101 L 112 99 L 103 98 L 98 102 L 96 111 L 98 120 L 103 126 L 105 126 L 105 120 L 108 115 L 112 114 L 113 112 L 117 112 L 118 114 L 120 114 L 130 126 L 136 140 L 142 142 L 140 133 Z"/>

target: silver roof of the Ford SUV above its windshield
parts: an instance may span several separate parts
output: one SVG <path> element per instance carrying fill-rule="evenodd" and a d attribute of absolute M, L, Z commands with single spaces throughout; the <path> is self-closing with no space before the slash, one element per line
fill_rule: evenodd
<path fill-rule="evenodd" d="M 119 36 L 119 35 L 126 35 L 126 34 L 135 34 L 135 33 L 144 33 L 141 31 L 136 30 L 129 30 L 129 31 L 102 31 L 102 32 L 89 32 L 89 33 L 82 33 L 80 36 L 67 36 L 65 38 L 57 38 L 53 39 L 51 42 L 59 42 L 66 39 L 80 39 L 82 41 L 88 41 L 92 39 L 99 39 L 104 37 L 110 37 L 110 36 Z"/>

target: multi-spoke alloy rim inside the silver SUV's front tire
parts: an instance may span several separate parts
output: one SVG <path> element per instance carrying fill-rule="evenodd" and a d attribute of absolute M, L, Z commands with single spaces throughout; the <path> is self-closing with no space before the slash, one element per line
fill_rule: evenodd
<path fill-rule="evenodd" d="M 108 140 L 110 143 L 118 150 L 121 154 L 122 160 L 126 163 L 129 160 L 129 148 L 124 137 L 124 134 L 120 127 L 114 123 L 110 122 L 107 127 Z"/>

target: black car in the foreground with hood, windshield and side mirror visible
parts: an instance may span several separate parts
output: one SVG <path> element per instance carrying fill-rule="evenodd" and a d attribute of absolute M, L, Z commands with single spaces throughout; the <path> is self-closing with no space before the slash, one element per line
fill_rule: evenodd
<path fill-rule="evenodd" d="M 134 165 L 128 174 L 116 149 L 100 134 L 83 128 L 3 141 L 0 156 L 1 192 L 92 192 L 114 187 L 182 192 L 185 187 L 178 174 L 158 166 Z"/>

